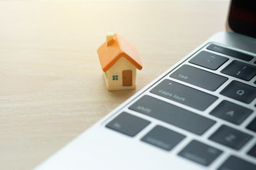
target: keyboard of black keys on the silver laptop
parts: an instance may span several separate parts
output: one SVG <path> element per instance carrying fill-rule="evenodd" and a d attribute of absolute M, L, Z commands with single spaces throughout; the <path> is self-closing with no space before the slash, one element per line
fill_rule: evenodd
<path fill-rule="evenodd" d="M 130 137 L 141 132 L 141 142 L 166 151 L 185 143 L 175 154 L 205 167 L 225 155 L 214 169 L 255 170 L 252 59 L 207 44 L 121 109 L 106 127 Z"/>

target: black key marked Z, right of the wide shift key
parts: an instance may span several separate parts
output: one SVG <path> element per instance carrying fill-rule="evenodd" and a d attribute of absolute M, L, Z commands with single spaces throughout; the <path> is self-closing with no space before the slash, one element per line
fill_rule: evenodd
<path fill-rule="evenodd" d="M 226 125 L 222 125 L 209 139 L 216 143 L 223 144 L 235 150 L 239 150 L 246 144 L 252 135 L 246 134 L 234 128 L 230 128 Z"/>

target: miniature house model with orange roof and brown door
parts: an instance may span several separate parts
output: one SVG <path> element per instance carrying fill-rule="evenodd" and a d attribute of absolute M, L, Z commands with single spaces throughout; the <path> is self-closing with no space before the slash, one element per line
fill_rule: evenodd
<path fill-rule="evenodd" d="M 136 68 L 142 69 L 138 51 L 120 35 L 107 33 L 98 49 L 108 90 L 136 88 Z"/>

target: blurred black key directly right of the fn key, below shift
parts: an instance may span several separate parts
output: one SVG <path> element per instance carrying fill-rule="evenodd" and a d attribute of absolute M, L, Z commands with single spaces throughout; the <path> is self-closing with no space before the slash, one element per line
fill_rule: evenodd
<path fill-rule="evenodd" d="M 164 150 L 172 150 L 180 141 L 182 141 L 186 136 L 174 132 L 165 127 L 157 125 L 154 127 L 147 135 L 145 135 L 141 141 L 144 141 L 149 144 L 153 144 Z"/>

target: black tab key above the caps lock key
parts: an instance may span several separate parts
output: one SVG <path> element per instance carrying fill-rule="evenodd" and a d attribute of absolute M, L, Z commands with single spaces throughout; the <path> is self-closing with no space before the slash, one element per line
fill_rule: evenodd
<path fill-rule="evenodd" d="M 181 66 L 178 70 L 172 73 L 170 77 L 210 91 L 215 91 L 221 84 L 227 81 L 226 77 L 189 65 Z"/>

